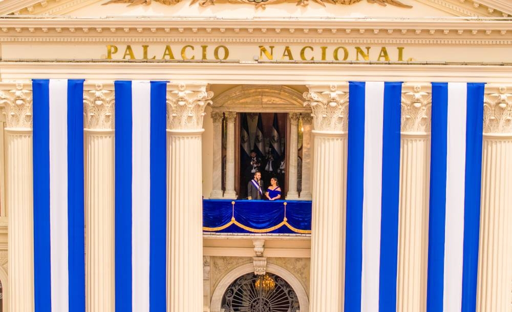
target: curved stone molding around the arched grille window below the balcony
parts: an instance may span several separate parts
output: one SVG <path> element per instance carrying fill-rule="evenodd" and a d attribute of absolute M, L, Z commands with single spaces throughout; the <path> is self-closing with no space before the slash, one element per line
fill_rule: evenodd
<path fill-rule="evenodd" d="M 280 276 L 288 284 L 290 284 L 295 294 L 297 295 L 298 302 L 301 307 L 301 312 L 309 312 L 308 295 L 301 281 L 299 281 L 293 274 L 288 272 L 285 268 L 273 263 L 267 263 L 267 272 Z M 217 287 L 215 287 L 213 295 L 211 296 L 211 312 L 221 311 L 222 296 L 226 292 L 226 289 L 234 280 L 247 273 L 254 273 L 254 266 L 252 263 L 244 264 L 233 269 L 220 280 L 220 282 L 217 284 Z"/>

